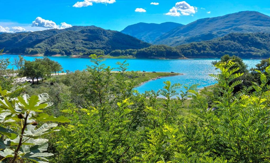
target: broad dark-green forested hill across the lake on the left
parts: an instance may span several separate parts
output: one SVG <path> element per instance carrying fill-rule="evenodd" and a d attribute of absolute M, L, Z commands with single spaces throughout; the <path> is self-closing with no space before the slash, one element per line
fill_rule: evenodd
<path fill-rule="evenodd" d="M 149 46 L 149 43 L 127 34 L 96 26 L 73 26 L 67 29 L 0 35 L 0 47 L 9 53 L 103 55 L 116 49 L 139 49 Z"/>

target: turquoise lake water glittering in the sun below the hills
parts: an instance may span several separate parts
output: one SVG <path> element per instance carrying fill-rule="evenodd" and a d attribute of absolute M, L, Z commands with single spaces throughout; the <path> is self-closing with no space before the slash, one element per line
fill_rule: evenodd
<path fill-rule="evenodd" d="M 12 61 L 16 55 L 6 55 L 2 57 L 10 58 Z M 26 60 L 34 60 L 36 57 L 24 57 Z M 89 59 L 85 58 L 69 58 L 69 57 L 49 57 L 52 60 L 58 61 L 65 70 L 75 71 L 83 70 L 86 65 L 91 65 Z M 136 89 L 140 93 L 144 91 L 158 91 L 163 87 L 163 81 L 169 80 L 171 83 L 180 84 L 200 84 L 200 88 L 204 86 L 209 86 L 215 83 L 214 78 L 210 77 L 209 74 L 217 73 L 214 67 L 212 67 L 212 62 L 215 59 L 194 59 L 194 60 L 157 60 L 157 59 L 113 59 L 109 58 L 104 61 L 104 64 L 110 67 L 117 68 L 116 62 L 123 62 L 127 60 L 129 63 L 129 71 L 147 71 L 147 72 L 178 72 L 184 75 L 178 75 L 173 77 L 164 77 L 157 80 L 149 81 Z M 245 59 L 244 62 L 248 65 L 248 68 L 255 67 L 260 60 L 248 60 Z M 12 68 L 12 66 L 9 66 Z"/>

